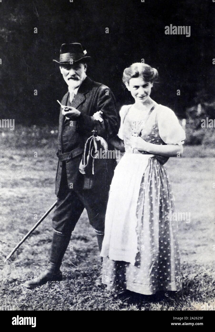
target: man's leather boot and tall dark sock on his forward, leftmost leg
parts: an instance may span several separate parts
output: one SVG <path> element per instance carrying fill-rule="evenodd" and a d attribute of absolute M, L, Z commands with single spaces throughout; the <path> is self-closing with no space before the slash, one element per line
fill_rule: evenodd
<path fill-rule="evenodd" d="M 37 286 L 44 285 L 50 281 L 62 281 L 63 276 L 60 271 L 60 266 L 69 244 L 71 234 L 65 235 L 62 233 L 54 232 L 51 246 L 50 260 L 45 272 L 38 277 L 27 280 L 24 286 L 32 289 Z"/>

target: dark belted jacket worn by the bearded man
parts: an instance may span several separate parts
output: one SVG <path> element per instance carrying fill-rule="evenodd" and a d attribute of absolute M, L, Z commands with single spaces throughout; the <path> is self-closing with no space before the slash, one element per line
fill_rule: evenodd
<path fill-rule="evenodd" d="M 68 100 L 69 92 L 65 94 L 61 104 L 66 105 L 66 101 Z M 98 136 L 102 136 L 107 142 L 110 137 L 113 137 L 118 133 L 120 121 L 119 114 L 115 107 L 114 96 L 107 86 L 94 82 L 89 77 L 86 77 L 70 105 L 78 109 L 81 112 L 81 115 L 77 118 L 77 121 L 73 121 L 73 125 L 70 127 L 71 135 L 69 134 L 69 142 L 66 144 L 65 150 L 62 144 L 65 117 L 62 115 L 62 108 L 60 110 L 59 153 L 61 154 L 69 152 L 69 150 L 72 151 L 73 149 L 80 148 L 79 155 L 72 157 L 70 160 L 64 161 L 68 188 L 73 190 L 90 188 L 102 189 L 103 186 L 108 186 L 111 182 L 116 165 L 115 160 L 97 159 L 96 163 L 99 172 L 90 177 L 79 172 L 79 164 L 82 158 L 84 144 L 87 138 L 92 136 L 93 129 L 96 129 L 98 131 Z M 97 111 L 103 112 L 103 122 L 95 121 L 92 117 Z M 108 148 L 113 149 L 110 144 L 108 144 Z M 59 193 L 61 177 L 62 162 L 59 161 L 56 175 L 56 195 Z"/>

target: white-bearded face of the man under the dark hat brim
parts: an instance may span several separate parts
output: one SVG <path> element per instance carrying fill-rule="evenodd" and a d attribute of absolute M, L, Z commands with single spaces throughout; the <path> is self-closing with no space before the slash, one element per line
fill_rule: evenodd
<path fill-rule="evenodd" d="M 66 84 L 73 89 L 81 85 L 86 77 L 86 70 L 86 63 L 81 62 L 60 66 Z"/>

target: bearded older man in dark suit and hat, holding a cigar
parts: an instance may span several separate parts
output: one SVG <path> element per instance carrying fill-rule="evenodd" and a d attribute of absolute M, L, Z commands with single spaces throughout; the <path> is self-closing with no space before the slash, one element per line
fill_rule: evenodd
<path fill-rule="evenodd" d="M 86 75 L 89 59 L 81 44 L 71 43 L 62 44 L 60 60 L 53 60 L 60 65 L 60 71 L 68 85 L 68 92 L 61 101 L 63 107 L 61 106 L 59 119 L 59 162 L 56 176 L 58 200 L 52 223 L 54 234 L 48 267 L 39 277 L 25 282 L 24 285 L 30 289 L 49 281 L 62 280 L 60 266 L 71 233 L 84 208 L 95 229 L 99 250 L 102 248 L 108 192 L 115 160 L 98 159 L 97 172 L 91 175 L 81 174 L 79 164 L 85 142 L 92 131 L 97 130 L 98 135 L 108 142 L 118 132 L 119 118 L 111 90 Z M 98 112 L 102 112 L 101 122 L 93 117 Z"/>

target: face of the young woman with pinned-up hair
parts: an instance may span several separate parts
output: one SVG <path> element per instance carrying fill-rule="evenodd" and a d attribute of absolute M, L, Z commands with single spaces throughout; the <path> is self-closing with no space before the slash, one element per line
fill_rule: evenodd
<path fill-rule="evenodd" d="M 131 92 L 135 102 L 145 103 L 151 94 L 153 83 L 146 82 L 142 77 L 131 78 L 129 84 L 126 82 L 128 91 Z"/>

